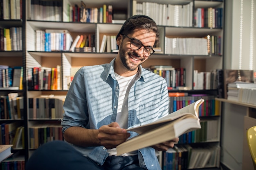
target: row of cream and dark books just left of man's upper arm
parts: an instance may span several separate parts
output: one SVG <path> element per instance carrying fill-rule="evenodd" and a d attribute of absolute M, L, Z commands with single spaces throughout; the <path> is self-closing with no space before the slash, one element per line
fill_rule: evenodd
<path fill-rule="evenodd" d="M 63 117 L 66 96 L 41 95 L 28 98 L 29 119 L 57 119 Z"/>

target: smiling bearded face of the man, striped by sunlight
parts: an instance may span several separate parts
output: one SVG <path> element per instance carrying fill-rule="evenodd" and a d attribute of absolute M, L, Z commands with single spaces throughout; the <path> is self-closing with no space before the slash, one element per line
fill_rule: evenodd
<path fill-rule="evenodd" d="M 119 57 L 124 67 L 127 70 L 137 70 L 139 65 L 144 63 L 148 56 L 145 55 L 144 46 L 151 47 L 153 49 L 156 35 L 154 32 L 148 32 L 145 29 L 136 29 L 133 34 L 126 35 L 132 39 L 139 40 L 141 42 L 141 48 L 139 50 L 133 50 L 131 48 L 131 39 L 121 35 L 123 40 L 119 46 Z M 139 42 L 136 41 L 136 42 Z"/>

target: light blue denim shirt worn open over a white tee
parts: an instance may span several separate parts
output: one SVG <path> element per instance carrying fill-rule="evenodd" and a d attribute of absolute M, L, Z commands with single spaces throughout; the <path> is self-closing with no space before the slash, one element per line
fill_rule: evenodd
<path fill-rule="evenodd" d="M 114 74 L 114 62 L 115 59 L 109 64 L 85 66 L 75 74 L 63 106 L 63 133 L 71 126 L 99 129 L 115 122 L 119 85 Z M 168 114 L 168 90 L 164 78 L 141 66 L 139 73 L 128 96 L 128 128 L 148 124 Z M 130 137 L 137 135 L 130 133 Z M 73 146 L 101 165 L 108 156 L 103 146 Z M 161 170 L 153 148 L 139 149 L 138 157 L 141 167 Z"/>

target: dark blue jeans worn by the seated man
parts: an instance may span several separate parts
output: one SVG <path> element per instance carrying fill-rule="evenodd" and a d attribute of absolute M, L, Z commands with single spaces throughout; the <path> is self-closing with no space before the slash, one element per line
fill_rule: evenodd
<path fill-rule="evenodd" d="M 144 170 L 138 157 L 109 156 L 103 166 L 83 156 L 63 141 L 48 142 L 31 155 L 26 170 Z"/>

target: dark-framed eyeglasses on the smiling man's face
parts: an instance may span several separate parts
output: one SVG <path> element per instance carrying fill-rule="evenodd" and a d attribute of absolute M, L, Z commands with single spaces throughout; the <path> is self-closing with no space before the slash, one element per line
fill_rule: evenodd
<path fill-rule="evenodd" d="M 124 35 L 124 34 L 122 34 L 122 35 Z M 130 47 L 132 48 L 132 50 L 139 50 L 143 46 L 144 47 L 143 54 L 147 57 L 149 57 L 150 55 L 152 55 L 155 52 L 155 50 L 153 50 L 152 47 L 144 46 L 141 43 L 141 41 L 139 41 L 138 39 L 128 37 L 127 35 L 124 35 L 124 37 L 129 38 L 131 40 Z"/>

